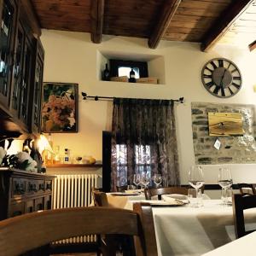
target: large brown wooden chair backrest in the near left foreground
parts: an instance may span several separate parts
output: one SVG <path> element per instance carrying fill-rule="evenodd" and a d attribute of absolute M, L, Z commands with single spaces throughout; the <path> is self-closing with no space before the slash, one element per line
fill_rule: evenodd
<path fill-rule="evenodd" d="M 137 203 L 135 211 L 109 207 L 62 208 L 32 212 L 0 222 L 0 255 L 15 256 L 51 241 L 90 234 L 125 234 L 138 239 L 137 252 L 157 255 L 152 209 Z M 37 254 L 38 255 L 38 254 Z"/>

